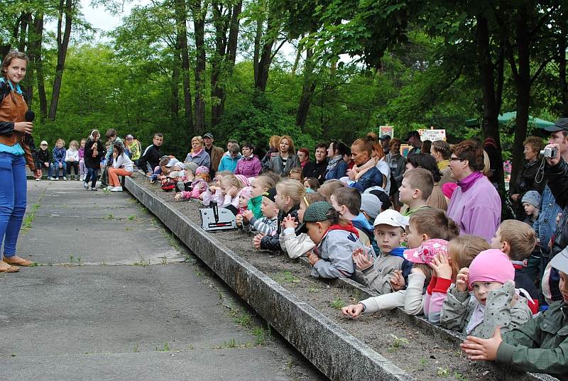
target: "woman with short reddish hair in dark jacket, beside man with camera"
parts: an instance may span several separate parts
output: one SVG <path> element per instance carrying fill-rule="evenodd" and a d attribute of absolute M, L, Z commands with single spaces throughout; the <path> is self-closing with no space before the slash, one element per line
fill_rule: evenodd
<path fill-rule="evenodd" d="M 529 136 L 523 142 L 525 146 L 525 164 L 517 175 L 517 181 L 510 186 L 510 199 L 513 200 L 515 214 L 519 221 L 524 221 L 526 214 L 523 204 L 520 200 L 526 192 L 535 190 L 542 195 L 542 190 L 545 189 L 545 182 L 540 183 L 535 181 L 535 177 L 539 167 L 539 155 L 542 150 L 542 139 L 536 136 Z"/>

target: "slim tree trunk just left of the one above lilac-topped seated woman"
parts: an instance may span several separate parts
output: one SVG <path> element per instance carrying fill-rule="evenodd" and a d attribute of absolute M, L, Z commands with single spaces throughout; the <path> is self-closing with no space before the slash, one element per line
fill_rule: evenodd
<path fill-rule="evenodd" d="M 193 130 L 193 114 L 190 89 L 190 55 L 187 49 L 187 9 L 185 8 L 185 0 L 175 0 L 174 6 L 177 23 L 178 45 L 182 61 L 183 104 L 185 109 L 184 126 L 187 134 L 189 135 Z"/>

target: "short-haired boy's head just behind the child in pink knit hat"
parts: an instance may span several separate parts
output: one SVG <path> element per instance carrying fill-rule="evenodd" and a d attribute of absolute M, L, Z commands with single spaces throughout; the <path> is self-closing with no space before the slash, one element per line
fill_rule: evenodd
<path fill-rule="evenodd" d="M 517 220 L 501 222 L 491 240 L 491 248 L 503 251 L 511 260 L 525 260 L 536 244 L 535 231 L 528 223 Z"/>

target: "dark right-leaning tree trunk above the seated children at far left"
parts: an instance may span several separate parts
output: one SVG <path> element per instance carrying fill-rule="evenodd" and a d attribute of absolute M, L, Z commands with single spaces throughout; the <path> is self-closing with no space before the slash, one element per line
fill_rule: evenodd
<path fill-rule="evenodd" d="M 64 3 L 65 1 L 65 3 Z M 55 121 L 55 114 L 58 109 L 59 93 L 61 90 L 61 82 L 63 79 L 63 70 L 65 69 L 65 58 L 67 57 L 67 48 L 69 47 L 69 40 L 71 36 L 71 26 L 72 26 L 72 12 L 73 12 L 73 1 L 72 0 L 60 0 L 59 2 L 60 11 L 58 17 L 58 63 L 55 67 L 55 77 L 53 79 L 53 91 L 51 93 L 51 104 L 49 108 L 50 121 Z M 65 15 L 65 31 L 61 31 L 63 15 Z"/>

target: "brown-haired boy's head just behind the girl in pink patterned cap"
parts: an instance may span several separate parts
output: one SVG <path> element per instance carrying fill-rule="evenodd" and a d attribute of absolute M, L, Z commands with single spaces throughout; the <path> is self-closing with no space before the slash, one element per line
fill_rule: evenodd
<path fill-rule="evenodd" d="M 406 242 L 409 248 L 416 248 L 429 239 L 439 238 L 452 241 L 459 236 L 459 227 L 442 209 L 427 208 L 410 216 Z"/>

